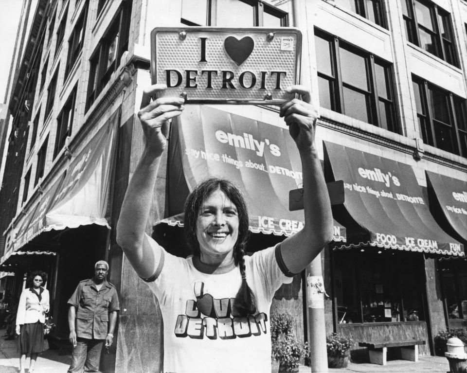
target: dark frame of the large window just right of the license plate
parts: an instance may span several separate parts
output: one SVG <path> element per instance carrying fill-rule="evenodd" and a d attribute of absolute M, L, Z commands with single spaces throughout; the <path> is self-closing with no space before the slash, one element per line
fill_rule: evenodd
<path fill-rule="evenodd" d="M 398 121 L 396 111 L 395 111 L 396 106 L 397 106 L 397 101 L 396 101 L 395 87 L 394 87 L 393 64 L 388 61 L 383 60 L 382 58 L 375 56 L 373 53 L 370 53 L 358 47 L 355 47 L 354 45 L 340 39 L 339 37 L 328 34 L 318 28 L 315 28 L 314 31 L 315 31 L 314 32 L 315 38 L 319 37 L 325 40 L 329 45 L 329 55 L 331 57 L 330 66 L 331 66 L 332 73 L 334 75 L 328 75 L 325 72 L 318 71 L 318 69 L 317 69 L 317 74 L 318 74 L 318 79 L 321 78 L 321 79 L 328 81 L 329 92 L 330 92 L 330 103 L 331 103 L 330 110 L 336 111 L 343 115 L 348 115 L 345 113 L 345 108 L 344 108 L 343 89 L 344 88 L 351 89 L 360 94 L 365 94 L 366 109 L 367 109 L 367 116 L 368 116 L 367 123 L 373 124 L 377 127 L 385 128 L 391 132 L 400 134 L 401 130 L 400 130 L 399 121 Z M 351 84 L 342 81 L 340 49 L 344 49 L 345 51 L 349 53 L 353 53 L 364 58 L 365 68 L 366 68 L 365 74 L 367 78 L 367 87 L 369 87 L 369 90 L 364 91 L 361 88 L 352 86 Z M 389 96 L 390 99 L 383 98 L 379 94 L 381 92 L 378 93 L 375 65 L 379 65 L 383 67 L 384 69 L 386 89 L 389 90 L 386 92 L 386 96 Z M 387 116 L 388 115 L 390 116 L 389 118 L 391 119 L 391 123 L 388 123 L 388 120 L 387 120 L 388 118 L 386 118 L 385 126 L 382 126 L 383 121 L 381 120 L 381 110 L 379 108 L 380 101 L 384 101 L 385 104 L 390 105 L 389 113 L 387 109 L 386 109 L 386 113 L 387 113 Z M 385 105 L 385 107 L 387 107 L 387 105 Z"/>

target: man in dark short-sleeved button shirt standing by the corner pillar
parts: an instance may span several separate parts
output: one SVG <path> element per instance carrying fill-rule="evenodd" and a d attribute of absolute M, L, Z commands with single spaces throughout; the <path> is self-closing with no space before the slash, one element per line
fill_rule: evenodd
<path fill-rule="evenodd" d="M 104 341 L 113 342 L 113 331 L 120 305 L 115 286 L 107 280 L 108 264 L 100 260 L 94 266 L 94 277 L 81 281 L 68 300 L 70 342 L 73 345 L 69 373 L 99 372 Z"/>

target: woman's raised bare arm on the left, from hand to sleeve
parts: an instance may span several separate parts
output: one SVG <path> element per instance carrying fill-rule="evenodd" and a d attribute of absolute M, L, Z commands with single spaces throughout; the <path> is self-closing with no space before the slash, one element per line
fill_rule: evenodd
<path fill-rule="evenodd" d="M 181 114 L 183 98 L 164 97 L 151 101 L 165 85 L 153 85 L 144 91 L 138 112 L 145 139 L 143 155 L 128 184 L 117 223 L 117 243 L 124 250 L 138 275 L 152 276 L 160 257 L 159 246 L 144 234 L 154 195 L 162 152 L 167 146 L 168 121 Z M 159 251 L 159 252 L 158 252 Z"/>

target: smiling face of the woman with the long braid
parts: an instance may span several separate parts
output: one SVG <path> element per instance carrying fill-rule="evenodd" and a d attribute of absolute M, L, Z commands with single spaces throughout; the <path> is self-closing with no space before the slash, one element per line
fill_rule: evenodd
<path fill-rule="evenodd" d="M 203 202 L 196 222 L 200 259 L 205 264 L 230 262 L 238 239 L 238 212 L 220 189 Z"/>

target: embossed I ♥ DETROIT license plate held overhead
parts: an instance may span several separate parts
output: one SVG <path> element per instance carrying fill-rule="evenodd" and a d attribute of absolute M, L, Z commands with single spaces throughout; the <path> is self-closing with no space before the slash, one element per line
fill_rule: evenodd
<path fill-rule="evenodd" d="M 188 104 L 278 105 L 300 81 L 301 45 L 294 28 L 155 28 L 151 79 Z"/>

